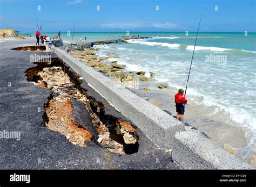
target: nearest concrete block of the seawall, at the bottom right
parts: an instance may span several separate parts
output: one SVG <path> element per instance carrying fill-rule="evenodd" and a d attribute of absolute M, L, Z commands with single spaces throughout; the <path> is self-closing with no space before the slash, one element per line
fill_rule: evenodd
<path fill-rule="evenodd" d="M 172 159 L 184 169 L 252 169 L 249 164 L 196 131 L 176 133 Z"/>

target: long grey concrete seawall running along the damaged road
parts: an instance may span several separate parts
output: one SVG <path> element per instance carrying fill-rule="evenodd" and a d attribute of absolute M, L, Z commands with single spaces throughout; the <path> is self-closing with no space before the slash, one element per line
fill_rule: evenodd
<path fill-rule="evenodd" d="M 157 146 L 173 149 L 172 159 L 184 169 L 252 169 L 212 140 L 196 132 L 185 131 L 183 123 L 129 90 L 120 88 L 110 78 L 79 59 L 62 49 L 54 50 L 61 60 L 136 124 Z"/>

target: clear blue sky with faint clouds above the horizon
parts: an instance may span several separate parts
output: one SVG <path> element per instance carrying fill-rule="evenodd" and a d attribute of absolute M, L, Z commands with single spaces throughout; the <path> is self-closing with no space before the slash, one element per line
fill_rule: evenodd
<path fill-rule="evenodd" d="M 0 28 L 21 32 L 256 32 L 255 0 L 0 0 Z M 38 10 L 40 6 L 41 10 Z M 97 10 L 99 6 L 99 11 Z M 159 10 L 156 10 L 156 6 Z M 215 11 L 218 6 L 218 10 Z"/>

